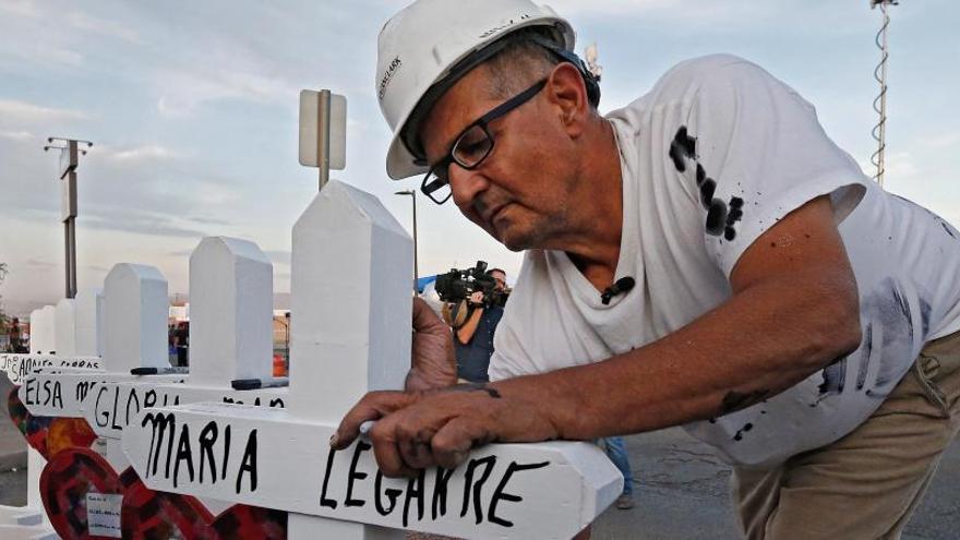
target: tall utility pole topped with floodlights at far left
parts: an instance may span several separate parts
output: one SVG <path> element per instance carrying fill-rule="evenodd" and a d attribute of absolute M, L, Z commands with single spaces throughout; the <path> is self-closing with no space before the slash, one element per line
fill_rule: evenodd
<path fill-rule="evenodd" d="M 80 148 L 80 145 L 86 148 Z M 59 136 L 47 137 L 44 152 L 50 148 L 60 151 L 60 188 L 61 188 L 61 220 L 63 221 L 63 247 L 65 263 L 65 298 L 76 297 L 76 166 L 80 156 L 86 155 L 86 151 L 94 143 L 77 139 L 63 139 Z"/>

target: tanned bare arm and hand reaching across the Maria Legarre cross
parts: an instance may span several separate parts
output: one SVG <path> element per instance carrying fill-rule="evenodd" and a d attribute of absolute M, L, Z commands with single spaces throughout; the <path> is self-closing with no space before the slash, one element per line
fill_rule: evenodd
<path fill-rule="evenodd" d="M 454 466 L 488 442 L 650 431 L 747 407 L 860 343 L 856 285 L 828 197 L 760 236 L 731 285 L 722 305 L 602 362 L 487 386 L 494 392 L 370 394 L 332 444 L 348 444 L 359 422 L 382 418 L 371 440 L 383 470 L 396 475 Z"/>

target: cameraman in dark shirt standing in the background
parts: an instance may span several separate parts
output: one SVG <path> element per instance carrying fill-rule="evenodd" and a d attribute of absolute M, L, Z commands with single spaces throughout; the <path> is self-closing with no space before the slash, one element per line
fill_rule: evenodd
<path fill-rule="evenodd" d="M 496 284 L 494 296 L 502 296 L 506 288 L 506 272 L 493 268 L 487 274 Z M 460 327 L 454 328 L 457 379 L 467 383 L 485 383 L 490 381 L 487 369 L 494 350 L 493 335 L 503 317 L 503 307 L 499 302 L 484 300 L 482 290 L 470 295 L 467 301 L 470 314 Z"/>

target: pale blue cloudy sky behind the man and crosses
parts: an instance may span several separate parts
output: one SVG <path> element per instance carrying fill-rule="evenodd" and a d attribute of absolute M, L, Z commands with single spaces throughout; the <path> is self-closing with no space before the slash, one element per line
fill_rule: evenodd
<path fill-rule="evenodd" d="M 453 0 L 452 0 L 453 1 Z M 380 197 L 412 230 L 394 192 L 389 131 L 374 94 L 376 35 L 407 1 L 0 0 L 0 286 L 14 314 L 63 295 L 58 156 L 47 136 L 93 141 L 77 169 L 79 287 L 113 264 L 156 266 L 187 293 L 190 252 L 205 236 L 256 242 L 289 291 L 290 229 L 316 194 L 298 163 L 301 88 L 348 100 L 347 167 L 333 171 Z M 869 175 L 879 10 L 868 0 L 554 0 L 596 43 L 601 111 L 647 92 L 679 61 L 747 58 L 793 86 L 827 133 Z M 960 7 L 890 8 L 885 187 L 960 226 Z M 507 271 L 508 252 L 452 203 L 418 197 L 420 274 L 477 260 Z"/>

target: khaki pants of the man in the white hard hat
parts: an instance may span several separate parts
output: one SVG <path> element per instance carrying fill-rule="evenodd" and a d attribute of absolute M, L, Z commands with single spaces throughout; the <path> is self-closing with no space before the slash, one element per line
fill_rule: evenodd
<path fill-rule="evenodd" d="M 960 430 L 960 333 L 924 347 L 876 412 L 772 470 L 735 468 L 748 539 L 898 539 Z"/>

